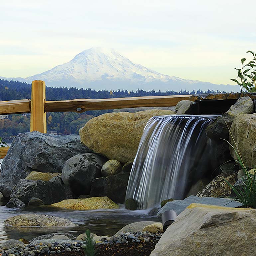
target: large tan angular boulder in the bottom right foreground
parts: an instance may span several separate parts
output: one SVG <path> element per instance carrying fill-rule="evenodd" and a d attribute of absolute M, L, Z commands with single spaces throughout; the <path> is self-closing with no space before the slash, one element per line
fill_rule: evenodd
<path fill-rule="evenodd" d="M 191 204 L 150 256 L 255 255 L 256 210 Z"/>

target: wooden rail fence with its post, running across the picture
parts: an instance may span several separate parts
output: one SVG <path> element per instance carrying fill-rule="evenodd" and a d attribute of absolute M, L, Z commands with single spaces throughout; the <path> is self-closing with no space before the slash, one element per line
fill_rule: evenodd
<path fill-rule="evenodd" d="M 46 101 L 45 82 L 35 80 L 32 82 L 31 100 L 0 101 L 0 114 L 31 113 L 30 131 L 47 132 L 47 112 L 84 112 L 87 110 L 119 109 L 134 107 L 170 107 L 176 106 L 181 100 L 201 99 L 238 99 L 250 96 L 256 99 L 256 94 L 250 93 L 224 93 L 205 95 L 172 95 L 172 96 L 147 96 L 113 99 L 73 99 L 60 101 Z M 7 154 L 9 147 L 0 148 L 0 159 Z"/>

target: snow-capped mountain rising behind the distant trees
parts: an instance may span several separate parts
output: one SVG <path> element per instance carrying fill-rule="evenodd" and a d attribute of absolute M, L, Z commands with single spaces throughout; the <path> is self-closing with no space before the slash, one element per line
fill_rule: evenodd
<path fill-rule="evenodd" d="M 113 49 L 91 48 L 77 54 L 70 62 L 27 78 L 5 78 L 31 83 L 44 80 L 47 86 L 137 90 L 225 90 L 238 91 L 232 85 L 186 80 L 164 75 L 140 64 L 134 64 Z"/>

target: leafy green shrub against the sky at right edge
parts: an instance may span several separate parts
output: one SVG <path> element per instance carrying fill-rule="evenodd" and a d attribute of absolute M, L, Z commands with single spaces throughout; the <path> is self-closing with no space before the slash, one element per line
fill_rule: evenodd
<path fill-rule="evenodd" d="M 240 85 L 241 92 L 243 89 L 246 92 L 256 92 L 256 54 L 252 51 L 247 51 L 246 53 L 251 53 L 253 58 L 247 64 L 245 64 L 246 58 L 241 59 L 241 68 L 235 67 L 238 71 L 237 78 L 240 78 L 240 82 L 237 79 L 231 79 Z"/>

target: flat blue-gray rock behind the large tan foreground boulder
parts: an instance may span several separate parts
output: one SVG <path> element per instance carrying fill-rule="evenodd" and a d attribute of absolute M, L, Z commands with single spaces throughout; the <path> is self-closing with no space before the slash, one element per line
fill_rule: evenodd
<path fill-rule="evenodd" d="M 168 210 L 174 210 L 177 214 L 180 214 L 192 203 L 210 204 L 225 207 L 242 206 L 241 203 L 229 198 L 198 197 L 195 195 L 191 195 L 185 198 L 184 200 L 173 200 L 172 202 L 167 202 L 166 205 L 162 207 L 160 211 L 157 213 L 157 217 L 161 218 L 162 214 Z"/>

